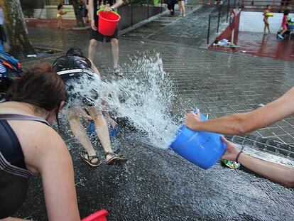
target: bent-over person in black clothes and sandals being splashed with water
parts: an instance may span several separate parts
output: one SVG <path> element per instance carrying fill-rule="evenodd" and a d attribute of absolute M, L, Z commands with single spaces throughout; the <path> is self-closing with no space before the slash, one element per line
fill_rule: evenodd
<path fill-rule="evenodd" d="M 63 55 L 55 60 L 53 68 L 58 72 L 62 80 L 67 85 L 67 93 L 69 95 L 69 99 L 71 100 L 68 108 L 68 121 L 70 123 L 72 133 L 75 134 L 76 138 L 85 149 L 85 151 L 81 153 L 82 160 L 87 162 L 90 166 L 99 166 L 101 163 L 89 137 L 87 136 L 87 131 L 84 126 L 82 126 L 82 122 L 80 122 L 80 117 L 86 120 L 92 119 L 94 121 L 97 136 L 105 151 L 107 164 L 111 165 L 114 163 L 125 162 L 126 158 L 124 156 L 114 153 L 111 149 L 107 122 L 109 122 L 109 124 L 113 127 L 116 126 L 116 122 L 109 117 L 109 114 L 104 117 L 102 110 L 95 107 L 97 104 L 94 99 L 97 99 L 99 96 L 94 92 L 92 98 L 83 97 L 80 95 L 80 92 L 75 92 L 75 84 L 83 84 L 83 77 L 86 77 L 87 80 L 91 80 L 94 79 L 93 75 L 95 74 L 100 76 L 99 71 L 92 61 L 84 57 L 80 48 L 70 48 L 67 50 L 66 55 Z M 87 85 L 85 85 L 85 87 L 87 87 Z M 79 104 L 80 100 L 82 100 L 82 104 Z"/>

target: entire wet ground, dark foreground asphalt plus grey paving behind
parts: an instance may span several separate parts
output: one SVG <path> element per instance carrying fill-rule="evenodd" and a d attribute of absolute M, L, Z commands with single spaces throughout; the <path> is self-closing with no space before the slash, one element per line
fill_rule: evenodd
<path fill-rule="evenodd" d="M 178 21 L 195 22 L 190 16 Z M 280 97 L 294 85 L 293 62 L 205 50 L 198 48 L 197 43 L 191 47 L 191 41 L 184 37 L 177 38 L 178 42 L 168 37 L 184 36 L 185 28 L 178 29 L 175 22 L 168 30 L 172 33 L 163 30 L 162 34 L 155 35 L 156 38 L 144 41 L 122 37 L 119 41 L 120 61 L 131 63 L 133 55 L 160 53 L 163 68 L 175 84 L 173 90 L 177 99 L 171 109 L 175 117 L 183 117 L 187 110 L 195 107 L 209 118 L 246 112 Z M 203 33 L 197 26 L 190 31 Z M 29 33 L 34 45 L 60 53 L 48 58 L 23 60 L 24 68 L 38 61 L 53 62 L 72 46 L 87 52 L 87 31 L 29 28 Z M 104 77 L 112 75 L 108 43 L 99 44 L 94 63 Z M 141 141 L 142 135 L 134 131 L 126 131 L 125 136 L 116 140 L 116 145 L 129 158 L 125 166 L 104 164 L 90 168 L 79 158 L 80 144 L 63 131 L 60 133 L 69 145 L 75 164 L 82 217 L 106 208 L 110 212 L 109 220 L 294 220 L 293 189 L 244 169 L 235 171 L 217 165 L 204 171 L 171 151 L 146 145 Z M 231 139 L 237 144 L 293 160 L 294 117 L 254 131 L 249 136 Z M 101 150 L 99 145 L 95 147 Z M 99 152 L 99 155 L 103 156 L 103 153 Z M 19 214 L 46 220 L 38 178 L 32 181 L 27 201 Z"/>

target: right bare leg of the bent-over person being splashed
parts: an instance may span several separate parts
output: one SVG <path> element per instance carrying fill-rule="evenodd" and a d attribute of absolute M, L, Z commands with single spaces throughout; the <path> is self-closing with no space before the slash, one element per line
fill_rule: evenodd
<path fill-rule="evenodd" d="M 87 107 L 87 111 L 95 122 L 97 136 L 102 144 L 105 153 L 112 153 L 107 121 L 104 119 L 102 112 L 99 112 L 94 106 Z M 109 157 L 111 156 L 107 156 L 107 160 L 109 159 Z"/>

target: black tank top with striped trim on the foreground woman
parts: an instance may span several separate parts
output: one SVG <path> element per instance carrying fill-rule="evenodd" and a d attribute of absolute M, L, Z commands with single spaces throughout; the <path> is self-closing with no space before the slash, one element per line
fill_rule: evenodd
<path fill-rule="evenodd" d="M 48 124 L 39 117 L 0 114 L 0 219 L 13 215 L 23 205 L 28 192 L 28 180 L 33 176 L 26 169 L 21 144 L 7 122 L 13 119 Z"/>

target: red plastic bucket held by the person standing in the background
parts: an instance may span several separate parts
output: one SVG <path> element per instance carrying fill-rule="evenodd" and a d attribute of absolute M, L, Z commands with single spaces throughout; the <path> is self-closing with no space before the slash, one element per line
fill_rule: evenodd
<path fill-rule="evenodd" d="M 121 16 L 114 11 L 105 12 L 104 9 L 97 11 L 99 16 L 98 31 L 104 36 L 112 36 Z"/>

